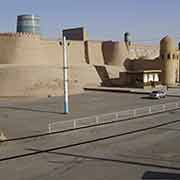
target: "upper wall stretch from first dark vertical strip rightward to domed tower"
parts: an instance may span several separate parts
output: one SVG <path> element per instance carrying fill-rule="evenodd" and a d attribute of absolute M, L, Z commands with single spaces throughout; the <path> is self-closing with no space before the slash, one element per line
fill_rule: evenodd
<path fill-rule="evenodd" d="M 85 55 L 89 64 L 118 66 L 122 72 L 161 68 L 159 46 L 133 44 L 127 49 L 118 41 L 86 41 Z"/>

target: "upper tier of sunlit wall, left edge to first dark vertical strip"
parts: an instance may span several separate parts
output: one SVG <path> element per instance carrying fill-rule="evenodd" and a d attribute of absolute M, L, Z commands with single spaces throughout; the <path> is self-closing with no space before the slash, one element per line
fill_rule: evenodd
<path fill-rule="evenodd" d="M 84 42 L 70 41 L 68 57 L 69 64 L 86 63 Z M 0 34 L 0 64 L 62 65 L 62 46 L 32 34 Z"/>

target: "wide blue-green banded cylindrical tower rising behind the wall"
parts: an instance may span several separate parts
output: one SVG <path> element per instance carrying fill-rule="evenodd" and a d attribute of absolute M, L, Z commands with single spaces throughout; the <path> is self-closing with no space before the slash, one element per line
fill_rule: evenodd
<path fill-rule="evenodd" d="M 18 33 L 40 34 L 40 17 L 35 15 L 19 15 L 17 17 Z"/>

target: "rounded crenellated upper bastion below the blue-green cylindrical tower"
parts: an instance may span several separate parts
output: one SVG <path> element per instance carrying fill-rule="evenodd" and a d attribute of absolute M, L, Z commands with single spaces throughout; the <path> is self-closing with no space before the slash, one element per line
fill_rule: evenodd
<path fill-rule="evenodd" d="M 40 36 L 28 33 L 0 34 L 0 64 L 39 64 L 43 58 Z"/>

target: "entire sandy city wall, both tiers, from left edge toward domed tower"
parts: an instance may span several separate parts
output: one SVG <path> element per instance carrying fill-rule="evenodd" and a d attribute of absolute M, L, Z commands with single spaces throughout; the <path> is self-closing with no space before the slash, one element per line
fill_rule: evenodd
<path fill-rule="evenodd" d="M 142 45 L 127 49 L 122 42 L 69 41 L 70 93 L 82 93 L 87 84 L 125 85 L 126 72 L 139 64 L 153 64 L 157 51 L 157 47 Z M 158 69 L 156 63 L 153 68 Z M 62 95 L 62 67 L 58 41 L 28 33 L 0 34 L 0 96 Z"/>

